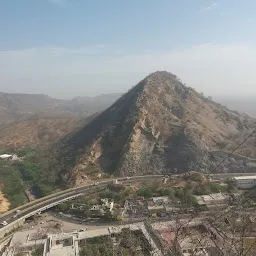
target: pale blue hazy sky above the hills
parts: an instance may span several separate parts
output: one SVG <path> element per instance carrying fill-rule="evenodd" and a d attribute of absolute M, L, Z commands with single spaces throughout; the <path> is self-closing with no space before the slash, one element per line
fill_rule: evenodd
<path fill-rule="evenodd" d="M 255 0 L 0 0 L 0 91 L 125 92 L 167 70 L 256 97 Z"/>

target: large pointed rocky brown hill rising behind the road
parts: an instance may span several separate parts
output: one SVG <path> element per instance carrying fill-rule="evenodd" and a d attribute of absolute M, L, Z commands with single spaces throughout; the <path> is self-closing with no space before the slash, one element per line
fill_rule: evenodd
<path fill-rule="evenodd" d="M 190 170 L 211 172 L 255 127 L 175 75 L 147 76 L 88 125 L 58 145 L 62 178 L 82 183 L 88 174 L 131 176 Z M 255 136 L 214 171 L 256 171 Z M 67 172 L 67 166 L 69 171 Z"/>

